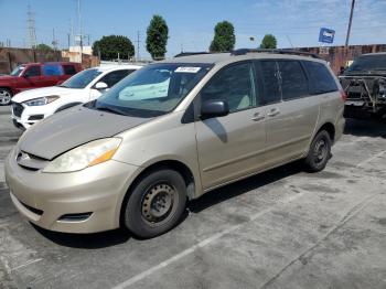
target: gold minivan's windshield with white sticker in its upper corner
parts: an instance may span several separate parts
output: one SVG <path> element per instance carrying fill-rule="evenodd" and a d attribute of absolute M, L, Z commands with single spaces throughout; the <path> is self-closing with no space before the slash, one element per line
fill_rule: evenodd
<path fill-rule="evenodd" d="M 99 97 L 93 107 L 154 117 L 173 110 L 211 69 L 210 64 L 150 64 Z"/>

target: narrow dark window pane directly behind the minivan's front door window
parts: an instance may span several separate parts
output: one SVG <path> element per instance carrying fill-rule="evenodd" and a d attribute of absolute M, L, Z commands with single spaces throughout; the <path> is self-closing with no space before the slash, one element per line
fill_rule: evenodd
<path fill-rule="evenodd" d="M 258 79 L 262 83 L 262 105 L 281 101 L 279 87 L 279 71 L 276 61 L 260 61 L 256 63 Z"/>

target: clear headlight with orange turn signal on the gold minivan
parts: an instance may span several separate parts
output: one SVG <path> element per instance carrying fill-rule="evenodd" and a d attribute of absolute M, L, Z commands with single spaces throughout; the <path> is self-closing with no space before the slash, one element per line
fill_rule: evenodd
<path fill-rule="evenodd" d="M 108 138 L 90 141 L 54 159 L 43 172 L 74 172 L 108 161 L 117 151 L 121 139 Z"/>

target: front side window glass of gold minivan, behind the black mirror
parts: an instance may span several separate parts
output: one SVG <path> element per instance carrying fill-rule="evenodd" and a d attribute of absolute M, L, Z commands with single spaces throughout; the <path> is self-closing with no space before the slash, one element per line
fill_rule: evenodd
<path fill-rule="evenodd" d="M 201 101 L 226 100 L 229 113 L 256 106 L 254 71 L 249 62 L 227 66 L 210 81 L 200 93 Z"/>

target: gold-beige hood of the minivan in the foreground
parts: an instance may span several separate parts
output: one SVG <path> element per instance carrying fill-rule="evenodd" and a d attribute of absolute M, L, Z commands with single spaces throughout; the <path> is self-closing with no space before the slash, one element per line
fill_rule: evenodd
<path fill-rule="evenodd" d="M 74 107 L 55 114 L 26 130 L 19 148 L 52 160 L 58 154 L 92 140 L 118 135 L 151 118 L 115 115 L 86 107 Z"/>

